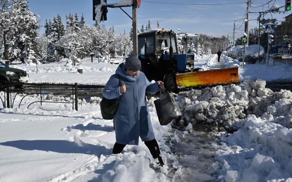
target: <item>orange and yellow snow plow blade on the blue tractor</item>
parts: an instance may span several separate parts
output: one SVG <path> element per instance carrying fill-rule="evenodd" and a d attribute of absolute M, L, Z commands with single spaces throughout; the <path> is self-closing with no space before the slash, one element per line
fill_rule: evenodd
<path fill-rule="evenodd" d="M 176 84 L 179 87 L 226 85 L 238 82 L 238 67 L 189 72 L 176 75 Z"/>

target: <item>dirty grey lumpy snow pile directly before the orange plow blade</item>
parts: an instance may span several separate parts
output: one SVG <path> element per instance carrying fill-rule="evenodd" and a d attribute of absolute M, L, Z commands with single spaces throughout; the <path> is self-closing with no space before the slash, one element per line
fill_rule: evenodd
<path fill-rule="evenodd" d="M 239 86 L 216 86 L 202 90 L 192 89 L 188 97 L 177 97 L 186 125 L 200 125 L 204 130 L 236 131 L 236 123 L 247 115 L 270 118 L 292 127 L 292 93 L 273 92 L 265 88 L 266 81 L 245 80 Z"/>

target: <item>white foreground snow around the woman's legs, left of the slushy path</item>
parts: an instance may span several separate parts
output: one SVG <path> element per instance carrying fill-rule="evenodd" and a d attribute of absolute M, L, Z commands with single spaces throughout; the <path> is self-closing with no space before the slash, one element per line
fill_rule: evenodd
<path fill-rule="evenodd" d="M 21 109 L 0 112 L 0 181 L 165 181 L 144 142 L 127 146 L 123 154 L 111 154 L 113 121 L 102 119 L 100 99 L 79 100 L 78 112 L 57 103 L 26 109 L 36 99 L 38 95 L 30 96 Z M 160 126 L 153 100 L 152 125 L 167 163 L 174 161 L 163 138 L 170 126 Z"/>

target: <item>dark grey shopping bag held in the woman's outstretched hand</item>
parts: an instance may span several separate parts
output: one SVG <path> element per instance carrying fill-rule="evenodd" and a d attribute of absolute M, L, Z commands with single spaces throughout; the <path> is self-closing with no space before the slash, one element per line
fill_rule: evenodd
<path fill-rule="evenodd" d="M 165 92 L 163 84 L 162 89 L 160 89 L 159 99 L 154 101 L 154 105 L 160 125 L 167 125 L 172 120 L 179 120 L 182 117 L 173 93 Z"/>

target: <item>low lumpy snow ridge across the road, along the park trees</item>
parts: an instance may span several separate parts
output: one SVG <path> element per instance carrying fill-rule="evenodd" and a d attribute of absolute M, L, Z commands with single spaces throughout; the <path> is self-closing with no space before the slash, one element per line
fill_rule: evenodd
<path fill-rule="evenodd" d="M 22 69 L 26 71 L 27 73 L 35 73 L 36 68 L 27 69 L 25 67 L 20 67 L 16 65 L 11 65 L 12 68 Z M 41 68 L 37 69 L 38 73 L 54 73 L 54 72 L 77 72 L 78 69 L 83 69 L 83 72 L 114 72 L 116 69 L 111 68 L 92 68 L 88 66 L 53 66 L 53 67 L 47 67 L 47 68 Z"/>

